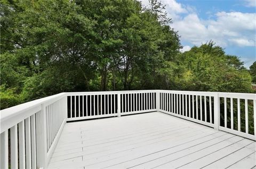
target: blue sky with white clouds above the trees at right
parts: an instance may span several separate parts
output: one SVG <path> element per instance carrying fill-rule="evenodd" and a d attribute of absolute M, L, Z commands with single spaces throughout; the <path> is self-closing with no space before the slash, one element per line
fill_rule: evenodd
<path fill-rule="evenodd" d="M 147 5 L 147 0 L 142 4 Z M 212 40 L 249 68 L 256 61 L 256 0 L 162 0 L 182 51 Z"/>

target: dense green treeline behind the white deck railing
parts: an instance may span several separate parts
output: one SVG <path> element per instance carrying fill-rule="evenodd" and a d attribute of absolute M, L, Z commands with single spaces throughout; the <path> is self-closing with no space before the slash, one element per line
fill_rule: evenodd
<path fill-rule="evenodd" d="M 156 0 L 1 2 L 1 109 L 60 92 L 253 92 L 255 66 L 212 41 L 181 53 Z"/>

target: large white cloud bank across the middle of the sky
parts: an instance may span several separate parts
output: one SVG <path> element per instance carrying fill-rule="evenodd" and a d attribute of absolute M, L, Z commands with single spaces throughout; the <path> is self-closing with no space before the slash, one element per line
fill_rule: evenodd
<path fill-rule="evenodd" d="M 142 4 L 146 0 L 142 1 Z M 253 5 L 255 0 L 245 0 Z M 166 11 L 173 19 L 172 27 L 179 31 L 182 41 L 194 45 L 212 40 L 221 47 L 256 46 L 256 13 L 218 12 L 214 19 L 203 20 L 198 17 L 193 6 L 185 6 L 175 0 L 163 0 Z"/>

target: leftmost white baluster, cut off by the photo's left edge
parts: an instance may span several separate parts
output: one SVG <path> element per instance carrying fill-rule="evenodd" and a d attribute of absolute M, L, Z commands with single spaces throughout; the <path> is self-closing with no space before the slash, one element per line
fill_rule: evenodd
<path fill-rule="evenodd" d="M 25 141 L 25 140 L 24 140 Z M 9 161 L 8 161 L 8 130 L 4 131 L 3 133 L 1 133 L 1 158 L 0 158 L 0 168 L 8 168 L 9 167 Z M 24 147 L 25 148 L 25 145 Z M 23 160 L 25 160 L 25 151 L 23 151 L 24 153 L 22 153 L 23 156 Z M 23 165 L 22 165 L 23 166 Z M 25 168 L 25 167 L 22 167 Z"/>

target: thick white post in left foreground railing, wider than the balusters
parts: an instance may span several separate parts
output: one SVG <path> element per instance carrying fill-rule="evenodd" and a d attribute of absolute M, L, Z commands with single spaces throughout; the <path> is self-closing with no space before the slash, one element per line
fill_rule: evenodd
<path fill-rule="evenodd" d="M 41 107 L 41 111 L 36 113 L 36 159 L 37 168 L 46 168 L 46 107 L 44 106 L 44 104 L 41 104 Z"/>

